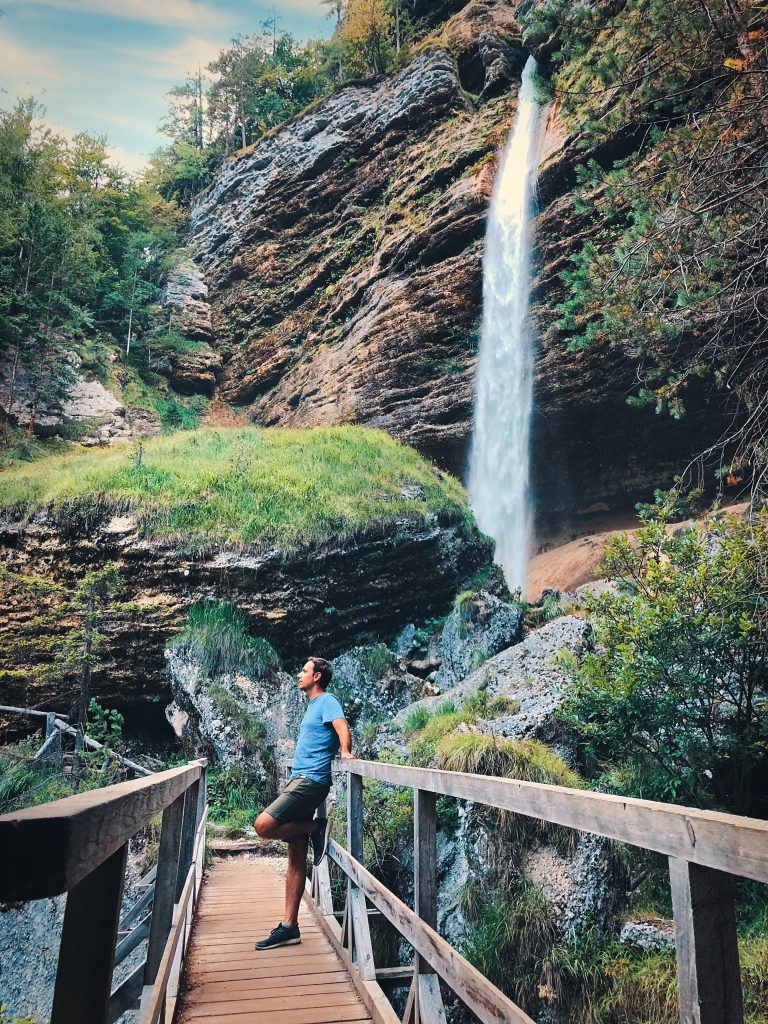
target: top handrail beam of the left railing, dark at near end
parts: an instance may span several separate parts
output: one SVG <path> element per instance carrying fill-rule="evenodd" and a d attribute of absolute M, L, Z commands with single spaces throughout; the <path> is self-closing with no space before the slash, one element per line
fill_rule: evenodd
<path fill-rule="evenodd" d="M 0 815 L 0 900 L 73 889 L 201 777 L 200 762 Z"/>

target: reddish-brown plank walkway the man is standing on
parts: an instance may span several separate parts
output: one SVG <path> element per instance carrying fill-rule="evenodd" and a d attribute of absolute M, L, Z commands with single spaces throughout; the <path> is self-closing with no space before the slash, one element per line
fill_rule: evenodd
<path fill-rule="evenodd" d="M 195 914 L 179 1024 L 346 1024 L 371 1016 L 311 910 L 301 943 L 259 952 L 253 944 L 283 918 L 285 861 L 215 861 Z"/>

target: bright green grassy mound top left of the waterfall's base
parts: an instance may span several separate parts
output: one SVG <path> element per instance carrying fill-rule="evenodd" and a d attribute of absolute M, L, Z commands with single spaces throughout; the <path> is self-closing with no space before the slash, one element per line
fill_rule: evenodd
<path fill-rule="evenodd" d="M 0 510 L 59 521 L 134 512 L 145 536 L 288 549 L 396 518 L 472 524 L 464 488 L 365 427 L 206 428 L 91 449 L 0 472 Z"/>

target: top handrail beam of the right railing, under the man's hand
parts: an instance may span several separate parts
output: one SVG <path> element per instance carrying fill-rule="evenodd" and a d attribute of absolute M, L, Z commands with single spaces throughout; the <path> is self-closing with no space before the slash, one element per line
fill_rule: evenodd
<path fill-rule="evenodd" d="M 381 761 L 341 761 L 335 767 L 393 785 L 487 804 L 669 857 L 681 857 L 702 867 L 768 882 L 768 821 L 759 818 Z"/>

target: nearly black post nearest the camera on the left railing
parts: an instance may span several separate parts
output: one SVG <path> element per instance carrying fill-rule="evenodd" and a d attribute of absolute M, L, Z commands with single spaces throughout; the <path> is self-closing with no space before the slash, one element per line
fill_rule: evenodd
<path fill-rule="evenodd" d="M 115 964 L 124 844 L 67 896 L 51 1024 L 105 1024 Z"/>

